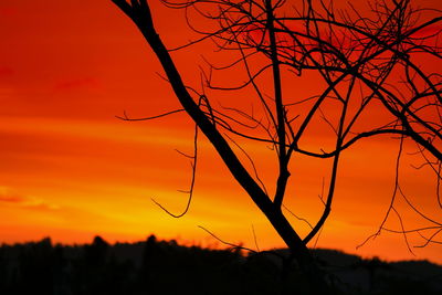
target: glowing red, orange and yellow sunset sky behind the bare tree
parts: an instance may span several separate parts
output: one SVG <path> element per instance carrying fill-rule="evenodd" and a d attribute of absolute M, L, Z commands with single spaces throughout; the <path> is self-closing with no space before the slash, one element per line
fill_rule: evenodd
<path fill-rule="evenodd" d="M 151 2 L 166 44 L 192 38 L 180 11 Z M 442 9 L 438 0 L 419 3 Z M 221 247 L 199 228 L 203 226 L 251 249 L 283 246 L 203 137 L 189 212 L 173 219 L 155 204 L 152 199 L 173 212 L 186 207 L 187 194 L 179 190 L 188 189 L 191 168 L 177 150 L 192 152 L 193 125 L 185 114 L 148 122 L 116 118 L 124 112 L 152 116 L 179 104 L 139 32 L 110 1 L 2 0 L 0 36 L 0 243 L 44 236 L 85 243 L 96 234 L 130 242 L 154 233 Z M 172 55 L 185 80 L 197 85 L 201 51 L 206 57 L 223 59 L 214 57 L 213 46 L 203 45 Z M 307 78 L 301 92 L 315 87 L 315 80 Z M 312 138 L 325 140 L 320 134 Z M 272 151 L 248 147 L 260 159 L 263 178 L 272 180 Z M 357 247 L 377 231 L 388 208 L 397 151 L 397 140 L 381 137 L 356 145 L 343 157 L 333 212 L 316 246 L 442 263 L 440 245 L 410 253 L 401 234 L 382 232 Z M 409 156 L 403 164 L 403 188 L 440 221 L 432 175 L 410 166 L 419 161 Z M 324 165 L 301 156 L 296 164 L 286 204 L 314 222 L 320 213 Z M 408 229 L 423 224 L 403 201 L 398 207 Z M 286 215 L 302 234 L 307 232 L 305 223 Z M 389 222 L 399 229 L 394 218 Z M 409 241 L 422 244 L 415 234 Z"/>

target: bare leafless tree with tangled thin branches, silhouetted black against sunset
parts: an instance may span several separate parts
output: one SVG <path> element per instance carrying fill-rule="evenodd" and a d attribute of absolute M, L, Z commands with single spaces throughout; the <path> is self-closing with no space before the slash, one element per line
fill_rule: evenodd
<path fill-rule="evenodd" d="M 439 209 L 441 171 L 442 76 L 434 67 L 441 62 L 439 42 L 442 17 L 439 10 L 414 8 L 411 0 L 375 0 L 369 9 L 348 6 L 337 9 L 333 0 L 161 0 L 171 9 L 182 9 L 189 27 L 199 39 L 177 49 L 168 49 L 157 33 L 147 0 L 112 0 L 138 27 L 159 60 L 167 81 L 182 109 L 139 119 L 150 119 L 186 112 L 196 123 L 192 181 L 189 208 L 197 171 L 198 130 L 201 130 L 219 156 L 264 213 L 291 250 L 311 285 L 311 292 L 325 294 L 327 284 L 312 257 L 307 244 L 318 234 L 328 218 L 334 200 L 341 154 L 367 137 L 383 136 L 396 140 L 399 152 L 396 186 L 391 203 L 381 222 L 382 230 L 407 236 L 419 233 L 429 243 L 442 231 L 442 223 L 420 211 L 400 187 L 399 172 L 406 144 L 414 144 L 422 156 L 422 167 L 435 175 Z M 215 65 L 207 61 L 200 89 L 186 85 L 170 56 L 170 51 L 211 40 L 219 52 L 229 52 L 231 62 Z M 439 70 L 439 69 L 438 69 Z M 436 70 L 436 71 L 438 71 Z M 213 73 L 241 73 L 246 81 L 236 85 L 217 85 Z M 293 97 L 291 87 L 301 87 L 305 76 L 317 80 L 316 93 Z M 298 84 L 293 81 L 298 80 Z M 238 80 L 232 80 L 238 83 Z M 295 85 L 295 86 L 293 86 Z M 218 106 L 218 92 L 253 95 L 253 109 L 241 104 Z M 236 101 L 238 102 L 238 101 Z M 257 106 L 257 107 L 256 107 Z M 377 116 L 382 114 L 382 116 Z M 373 119 L 376 117 L 376 119 Z M 133 120 L 126 115 L 123 119 Z M 312 147 L 305 145 L 311 133 L 333 138 Z M 242 140 L 245 144 L 240 144 Z M 274 191 L 267 190 L 248 143 L 270 147 L 276 155 Z M 364 141 L 362 141 L 364 143 Z M 322 196 L 323 213 L 301 236 L 283 209 L 294 155 L 323 159 L 329 177 Z M 243 159 L 243 160 L 241 160 Z M 396 199 L 407 203 L 430 224 L 398 231 L 387 229 L 390 213 L 400 212 Z M 291 211 L 287 212 L 291 213 Z M 431 232 L 428 235 L 428 232 Z"/>

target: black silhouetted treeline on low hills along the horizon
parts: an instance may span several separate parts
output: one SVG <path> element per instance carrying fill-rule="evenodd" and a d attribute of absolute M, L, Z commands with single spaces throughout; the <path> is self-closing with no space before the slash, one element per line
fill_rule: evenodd
<path fill-rule="evenodd" d="M 442 267 L 386 263 L 316 250 L 336 294 L 442 294 Z M 285 251 L 182 246 L 176 241 L 52 244 L 49 238 L 0 247 L 1 295 L 303 294 L 305 280 Z"/>

